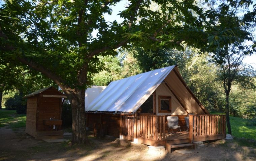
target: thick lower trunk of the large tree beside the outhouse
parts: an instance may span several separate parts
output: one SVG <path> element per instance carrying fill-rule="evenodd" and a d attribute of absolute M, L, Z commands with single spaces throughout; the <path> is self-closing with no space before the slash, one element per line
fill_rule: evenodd
<path fill-rule="evenodd" d="M 87 144 L 85 90 L 76 89 L 75 94 L 69 101 L 72 107 L 72 143 Z"/>

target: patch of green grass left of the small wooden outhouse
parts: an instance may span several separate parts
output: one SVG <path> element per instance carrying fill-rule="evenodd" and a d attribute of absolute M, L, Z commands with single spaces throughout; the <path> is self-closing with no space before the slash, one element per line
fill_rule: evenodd
<path fill-rule="evenodd" d="M 17 114 L 16 110 L 0 110 L 0 127 L 9 126 L 11 129 L 26 127 L 26 115 Z"/>

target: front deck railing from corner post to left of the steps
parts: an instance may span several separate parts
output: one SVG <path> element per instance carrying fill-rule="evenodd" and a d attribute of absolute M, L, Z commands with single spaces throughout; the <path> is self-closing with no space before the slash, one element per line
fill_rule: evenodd
<path fill-rule="evenodd" d="M 166 116 L 138 115 L 135 116 L 136 138 L 149 140 L 165 139 Z"/>

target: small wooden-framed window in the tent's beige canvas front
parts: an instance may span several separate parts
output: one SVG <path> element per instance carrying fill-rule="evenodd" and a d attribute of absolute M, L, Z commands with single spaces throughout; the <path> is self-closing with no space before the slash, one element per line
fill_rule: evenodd
<path fill-rule="evenodd" d="M 170 96 L 158 96 L 158 112 L 171 112 Z"/>

